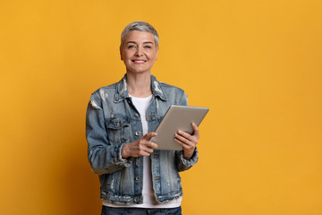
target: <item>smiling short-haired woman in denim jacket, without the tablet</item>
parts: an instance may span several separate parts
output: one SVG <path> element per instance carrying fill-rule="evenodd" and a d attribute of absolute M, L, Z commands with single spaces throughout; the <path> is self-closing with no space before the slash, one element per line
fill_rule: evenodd
<path fill-rule="evenodd" d="M 147 22 L 132 22 L 121 36 L 126 74 L 120 82 L 95 91 L 86 119 L 89 163 L 101 183 L 102 214 L 181 214 L 178 172 L 198 160 L 194 134 L 178 131 L 182 151 L 157 150 L 149 142 L 171 105 L 187 105 L 183 90 L 157 82 L 158 34 Z"/>

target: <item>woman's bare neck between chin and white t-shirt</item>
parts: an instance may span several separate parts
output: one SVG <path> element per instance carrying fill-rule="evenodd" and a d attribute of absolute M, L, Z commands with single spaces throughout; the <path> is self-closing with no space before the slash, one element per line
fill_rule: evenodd
<path fill-rule="evenodd" d="M 126 73 L 129 94 L 145 98 L 152 94 L 150 73 Z"/>

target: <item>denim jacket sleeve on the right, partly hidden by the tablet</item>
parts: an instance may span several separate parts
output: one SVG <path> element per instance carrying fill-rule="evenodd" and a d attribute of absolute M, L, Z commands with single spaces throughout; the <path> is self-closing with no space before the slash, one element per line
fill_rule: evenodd
<path fill-rule="evenodd" d="M 184 91 L 182 92 L 182 96 L 179 99 L 179 105 L 188 106 L 187 94 L 185 94 Z M 182 150 L 175 151 L 175 164 L 179 172 L 192 168 L 192 166 L 198 162 L 198 158 L 197 147 L 195 148 L 191 159 L 184 159 Z"/>

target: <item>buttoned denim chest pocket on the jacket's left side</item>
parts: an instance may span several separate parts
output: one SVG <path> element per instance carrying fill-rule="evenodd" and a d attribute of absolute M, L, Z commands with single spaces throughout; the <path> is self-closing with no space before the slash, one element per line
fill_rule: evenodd
<path fill-rule="evenodd" d="M 107 139 L 112 143 L 123 143 L 130 139 L 130 122 L 126 118 L 112 118 L 106 122 Z"/>

